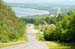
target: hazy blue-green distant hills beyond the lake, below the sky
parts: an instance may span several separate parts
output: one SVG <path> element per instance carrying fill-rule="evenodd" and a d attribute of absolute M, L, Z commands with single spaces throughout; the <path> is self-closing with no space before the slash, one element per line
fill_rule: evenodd
<path fill-rule="evenodd" d="M 68 13 L 71 9 L 74 9 L 75 5 L 61 5 L 61 4 L 27 4 L 27 3 L 8 3 L 12 7 L 22 7 L 22 8 L 33 8 L 39 10 L 49 11 L 50 14 L 56 14 L 58 12 L 58 8 L 61 8 L 61 13 Z"/>

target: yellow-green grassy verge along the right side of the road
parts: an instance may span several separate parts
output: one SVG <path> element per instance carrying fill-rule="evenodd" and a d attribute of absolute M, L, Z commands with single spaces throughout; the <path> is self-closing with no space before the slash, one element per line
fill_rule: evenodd
<path fill-rule="evenodd" d="M 49 49 L 75 49 L 74 43 L 61 43 L 57 41 L 46 41 L 41 33 L 36 33 L 36 38 L 45 43 Z"/>

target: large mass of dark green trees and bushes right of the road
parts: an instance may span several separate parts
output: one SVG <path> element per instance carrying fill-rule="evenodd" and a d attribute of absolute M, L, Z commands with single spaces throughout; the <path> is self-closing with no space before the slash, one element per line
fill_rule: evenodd
<path fill-rule="evenodd" d="M 49 41 L 75 42 L 75 12 L 70 11 L 63 19 L 56 23 L 56 27 L 48 27 L 44 31 L 44 38 Z"/>

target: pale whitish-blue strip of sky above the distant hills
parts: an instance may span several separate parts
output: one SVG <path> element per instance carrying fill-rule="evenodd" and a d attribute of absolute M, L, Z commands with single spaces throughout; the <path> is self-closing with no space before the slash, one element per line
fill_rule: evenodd
<path fill-rule="evenodd" d="M 9 3 L 56 3 L 56 4 L 75 4 L 75 0 L 4 0 Z"/>

